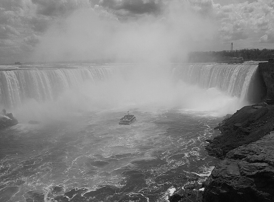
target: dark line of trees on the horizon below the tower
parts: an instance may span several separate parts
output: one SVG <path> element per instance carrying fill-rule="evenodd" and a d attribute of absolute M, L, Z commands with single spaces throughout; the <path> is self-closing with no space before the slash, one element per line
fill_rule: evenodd
<path fill-rule="evenodd" d="M 232 58 L 242 57 L 244 60 L 262 60 L 266 59 L 264 55 L 274 55 L 274 49 L 241 49 L 230 51 L 207 51 L 190 52 L 188 62 L 215 62 L 227 61 Z"/>

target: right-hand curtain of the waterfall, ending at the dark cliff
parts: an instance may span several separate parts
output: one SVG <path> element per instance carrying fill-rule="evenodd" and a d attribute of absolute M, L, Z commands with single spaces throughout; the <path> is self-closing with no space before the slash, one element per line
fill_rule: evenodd
<path fill-rule="evenodd" d="M 218 88 L 230 96 L 246 100 L 258 64 L 183 64 L 173 69 L 173 75 L 202 88 Z"/>

